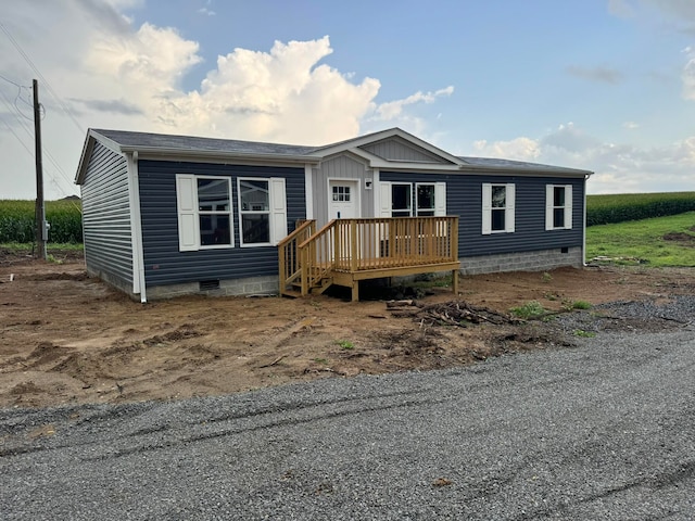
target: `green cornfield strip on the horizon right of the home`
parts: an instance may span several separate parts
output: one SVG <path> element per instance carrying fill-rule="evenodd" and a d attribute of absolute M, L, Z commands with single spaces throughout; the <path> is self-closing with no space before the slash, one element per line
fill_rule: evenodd
<path fill-rule="evenodd" d="M 586 196 L 586 226 L 649 219 L 695 211 L 695 192 Z"/>

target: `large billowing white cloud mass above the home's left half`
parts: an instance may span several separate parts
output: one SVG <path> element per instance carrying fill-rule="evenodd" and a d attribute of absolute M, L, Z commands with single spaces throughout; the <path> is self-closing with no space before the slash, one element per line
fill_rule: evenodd
<path fill-rule="evenodd" d="M 377 104 L 378 79 L 356 80 L 324 63 L 332 53 L 328 36 L 277 41 L 268 51 L 233 49 L 212 63 L 199 87 L 185 90 L 184 78 L 190 85 L 187 75 L 200 71 L 203 62 L 199 43 L 175 28 L 134 26 L 121 10 L 140 4 L 141 0 L 15 2 L 2 21 L 49 82 L 39 86 L 46 106 L 43 145 L 55 158 L 45 158 L 49 199 L 77 191 L 72 179 L 88 127 L 325 144 L 354 137 L 376 119 L 405 122 L 409 130 L 420 131 L 424 122 L 408 109 L 453 91 L 447 87 Z M 211 2 L 201 9 L 204 14 L 213 11 Z M 41 38 L 35 37 L 37 31 Z M 3 62 L 3 75 L 30 85 L 36 72 L 13 52 Z M 0 89 L 10 100 L 0 97 L 3 120 L 18 125 L 13 119 L 22 116 L 13 114 L 12 106 L 16 88 L 0 82 Z M 15 134 L 33 150 L 29 127 Z M 16 149 L 15 137 L 0 125 L 0 154 L 10 158 L 0 170 L 0 196 L 31 196 L 34 160 Z"/>

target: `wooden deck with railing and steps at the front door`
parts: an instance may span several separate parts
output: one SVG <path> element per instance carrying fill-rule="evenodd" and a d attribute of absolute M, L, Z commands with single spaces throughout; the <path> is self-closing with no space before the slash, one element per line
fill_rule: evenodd
<path fill-rule="evenodd" d="M 332 284 L 451 271 L 458 293 L 458 217 L 334 219 L 316 231 L 304 221 L 278 244 L 280 294 L 307 295 Z"/>

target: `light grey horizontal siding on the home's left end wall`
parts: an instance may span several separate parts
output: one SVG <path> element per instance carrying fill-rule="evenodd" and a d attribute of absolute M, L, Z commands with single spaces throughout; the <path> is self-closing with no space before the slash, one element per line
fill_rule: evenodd
<path fill-rule="evenodd" d="M 87 271 L 132 294 L 132 226 L 126 157 L 94 143 L 80 191 Z"/>

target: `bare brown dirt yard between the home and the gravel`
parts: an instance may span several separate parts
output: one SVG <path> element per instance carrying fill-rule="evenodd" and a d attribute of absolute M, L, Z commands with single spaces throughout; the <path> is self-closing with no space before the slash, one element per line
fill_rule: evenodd
<path fill-rule="evenodd" d="M 595 267 L 463 277 L 458 300 L 508 314 L 530 301 L 561 312 L 576 301 L 694 291 L 692 268 Z M 433 288 L 417 300 L 448 304 L 433 310 L 441 319 L 408 316 L 418 312 L 414 306 L 394 314 L 386 297 L 350 303 L 340 295 L 190 296 L 142 305 L 87 277 L 79 257 L 54 264 L 0 252 L 0 407 L 218 395 L 445 368 L 576 341 L 540 321 L 496 325 L 483 317 L 458 327 L 445 320 L 454 298 Z"/>

